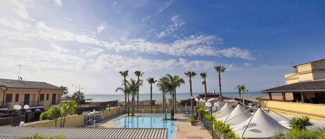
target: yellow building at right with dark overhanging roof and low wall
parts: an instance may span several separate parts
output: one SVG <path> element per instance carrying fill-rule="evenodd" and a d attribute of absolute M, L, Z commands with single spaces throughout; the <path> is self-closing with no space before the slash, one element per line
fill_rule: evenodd
<path fill-rule="evenodd" d="M 285 85 L 265 89 L 263 106 L 276 111 L 325 118 L 325 59 L 293 66 L 285 75 Z M 276 95 L 274 95 L 276 94 Z"/>

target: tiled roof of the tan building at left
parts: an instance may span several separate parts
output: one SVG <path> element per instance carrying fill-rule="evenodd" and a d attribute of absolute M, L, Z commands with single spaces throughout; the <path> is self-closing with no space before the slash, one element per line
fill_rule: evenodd
<path fill-rule="evenodd" d="M 0 79 L 0 87 L 7 89 L 49 89 L 49 90 L 62 90 L 58 86 L 48 84 L 46 82 L 33 82 L 21 80 Z"/>

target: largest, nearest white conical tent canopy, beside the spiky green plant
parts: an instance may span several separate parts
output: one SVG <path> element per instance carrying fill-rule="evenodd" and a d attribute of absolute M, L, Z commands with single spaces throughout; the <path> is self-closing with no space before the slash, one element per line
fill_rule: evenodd
<path fill-rule="evenodd" d="M 240 124 L 233 125 L 231 128 L 232 131 L 243 138 L 272 138 L 279 131 L 288 132 L 286 127 L 281 126 L 262 109 L 258 109 L 251 118 Z"/>

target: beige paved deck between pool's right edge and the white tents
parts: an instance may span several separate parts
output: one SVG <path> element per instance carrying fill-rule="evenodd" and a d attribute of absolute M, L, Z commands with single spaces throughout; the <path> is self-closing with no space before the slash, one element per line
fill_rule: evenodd
<path fill-rule="evenodd" d="M 188 117 L 182 114 L 176 114 L 177 118 L 177 139 L 210 139 L 210 135 L 207 129 L 200 129 L 200 127 L 192 126 L 191 122 L 188 122 Z"/>

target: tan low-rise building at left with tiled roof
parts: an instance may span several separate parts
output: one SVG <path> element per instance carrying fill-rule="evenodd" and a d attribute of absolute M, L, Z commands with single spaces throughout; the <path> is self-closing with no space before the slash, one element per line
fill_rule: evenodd
<path fill-rule="evenodd" d="M 48 108 L 59 104 L 61 95 L 60 87 L 46 82 L 0 79 L 1 110 L 10 110 L 14 105 Z"/>

